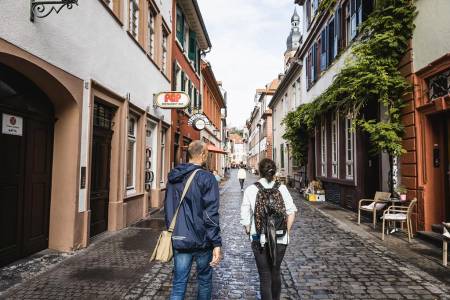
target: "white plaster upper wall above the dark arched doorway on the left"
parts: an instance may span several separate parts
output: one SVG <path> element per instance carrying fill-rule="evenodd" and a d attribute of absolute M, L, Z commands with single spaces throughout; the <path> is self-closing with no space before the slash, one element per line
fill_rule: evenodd
<path fill-rule="evenodd" d="M 171 27 L 172 1 L 156 3 Z M 138 107 L 146 109 L 154 94 L 170 89 L 169 81 L 100 0 L 81 0 L 71 10 L 63 8 L 34 23 L 29 20 L 30 1 L 2 0 L 0 12 L 0 38 L 83 80 L 94 79 L 121 96 L 129 93 Z M 158 114 L 170 123 L 170 111 Z"/>

